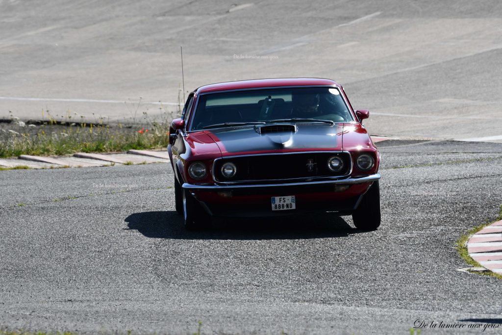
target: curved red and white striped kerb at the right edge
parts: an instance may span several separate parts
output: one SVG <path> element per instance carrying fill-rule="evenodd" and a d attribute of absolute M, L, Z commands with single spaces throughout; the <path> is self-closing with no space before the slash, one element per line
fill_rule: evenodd
<path fill-rule="evenodd" d="M 502 274 L 502 220 L 472 235 L 467 241 L 467 251 L 482 267 Z"/>

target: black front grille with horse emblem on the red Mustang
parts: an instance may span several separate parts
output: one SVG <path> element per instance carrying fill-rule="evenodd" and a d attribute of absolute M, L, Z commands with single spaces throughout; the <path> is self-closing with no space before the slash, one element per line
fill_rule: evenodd
<path fill-rule="evenodd" d="M 328 168 L 327 162 L 332 156 L 343 160 L 341 171 L 333 172 Z M 225 162 L 232 162 L 237 168 L 232 178 L 225 178 L 221 174 L 221 167 Z M 214 162 L 214 176 L 217 182 L 277 181 L 346 176 L 350 173 L 350 168 L 350 155 L 343 152 L 250 155 L 217 159 Z"/>

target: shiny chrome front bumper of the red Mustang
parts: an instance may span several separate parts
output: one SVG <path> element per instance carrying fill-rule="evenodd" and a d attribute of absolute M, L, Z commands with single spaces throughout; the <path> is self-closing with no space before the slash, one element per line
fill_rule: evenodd
<path fill-rule="evenodd" d="M 275 186 L 302 186 L 302 185 L 319 185 L 319 184 L 361 184 L 376 181 L 380 179 L 380 174 L 375 173 L 361 178 L 333 179 L 323 181 L 304 181 L 296 183 L 283 184 L 251 184 L 251 185 L 193 185 L 184 183 L 181 187 L 184 189 L 201 189 L 201 190 L 221 190 L 228 188 L 256 188 L 256 187 L 275 187 Z"/>

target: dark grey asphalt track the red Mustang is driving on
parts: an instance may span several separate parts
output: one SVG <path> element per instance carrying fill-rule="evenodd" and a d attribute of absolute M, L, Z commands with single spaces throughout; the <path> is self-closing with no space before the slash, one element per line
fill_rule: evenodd
<path fill-rule="evenodd" d="M 408 333 L 417 319 L 502 323 L 499 280 L 457 271 L 467 265 L 454 248 L 498 214 L 502 144 L 379 147 L 375 232 L 332 214 L 186 232 L 164 163 L 4 171 L 0 325 L 365 334 Z"/>

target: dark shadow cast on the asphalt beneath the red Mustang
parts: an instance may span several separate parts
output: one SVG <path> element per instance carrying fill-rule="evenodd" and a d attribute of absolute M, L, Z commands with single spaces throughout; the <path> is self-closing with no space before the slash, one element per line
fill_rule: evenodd
<path fill-rule="evenodd" d="M 211 229 L 190 232 L 175 211 L 147 211 L 126 217 L 128 228 L 149 238 L 182 240 L 292 240 L 347 237 L 361 231 L 330 213 L 275 218 L 215 219 Z"/>

